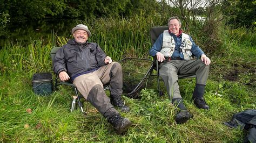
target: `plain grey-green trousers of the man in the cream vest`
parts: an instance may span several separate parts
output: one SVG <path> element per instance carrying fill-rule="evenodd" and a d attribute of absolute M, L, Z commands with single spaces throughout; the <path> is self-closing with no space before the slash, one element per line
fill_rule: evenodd
<path fill-rule="evenodd" d="M 196 74 L 196 84 L 206 85 L 210 66 L 201 60 L 170 60 L 160 64 L 159 75 L 163 78 L 170 100 L 181 98 L 178 74 Z"/>

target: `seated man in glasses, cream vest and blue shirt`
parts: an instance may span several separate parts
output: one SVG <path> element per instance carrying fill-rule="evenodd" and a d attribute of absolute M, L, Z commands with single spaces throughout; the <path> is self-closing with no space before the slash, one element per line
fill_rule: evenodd
<path fill-rule="evenodd" d="M 159 35 L 150 49 L 151 56 L 157 56 L 160 63 L 159 74 L 163 78 L 167 94 L 172 103 L 178 107 L 175 120 L 178 124 L 192 118 L 183 104 L 178 85 L 178 74 L 196 74 L 196 87 L 192 101 L 200 109 L 210 109 L 204 100 L 205 85 L 211 60 L 197 46 L 190 35 L 183 33 L 178 17 L 168 20 L 169 30 Z M 198 60 L 192 60 L 193 55 Z"/>

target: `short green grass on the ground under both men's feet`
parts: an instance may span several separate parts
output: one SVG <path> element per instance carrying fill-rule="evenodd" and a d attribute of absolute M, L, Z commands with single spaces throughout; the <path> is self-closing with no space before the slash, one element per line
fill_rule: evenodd
<path fill-rule="evenodd" d="M 235 112 L 255 108 L 255 101 L 238 106 L 225 95 L 215 95 L 214 87 L 218 87 L 218 83 L 210 80 L 205 98 L 211 110 L 197 109 L 190 101 L 190 85 L 184 84 L 190 80 L 181 80 L 180 85 L 181 92 L 190 90 L 184 100 L 193 119 L 182 125 L 176 124 L 173 119 L 176 108 L 167 96 L 159 98 L 153 89 L 145 89 L 140 100 L 123 97 L 131 112 L 122 115 L 130 118 L 133 124 L 122 136 L 116 134 L 88 102 L 84 102 L 88 115 L 82 115 L 79 110 L 70 113 L 73 92 L 66 87 L 50 96 L 38 96 L 33 94 L 29 78 L 8 80 L 4 77 L 1 78 L 0 98 L 1 141 L 240 141 L 244 132 L 228 128 L 223 123 Z M 32 112 L 26 112 L 27 109 Z M 25 124 L 29 127 L 25 128 Z"/>

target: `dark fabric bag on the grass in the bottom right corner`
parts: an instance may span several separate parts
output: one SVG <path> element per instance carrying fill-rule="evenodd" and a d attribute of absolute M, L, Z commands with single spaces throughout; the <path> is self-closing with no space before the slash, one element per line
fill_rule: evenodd
<path fill-rule="evenodd" d="M 225 125 L 244 129 L 248 131 L 248 135 L 244 142 L 256 142 L 256 110 L 245 110 L 239 113 L 235 113 L 231 121 L 225 122 Z"/>

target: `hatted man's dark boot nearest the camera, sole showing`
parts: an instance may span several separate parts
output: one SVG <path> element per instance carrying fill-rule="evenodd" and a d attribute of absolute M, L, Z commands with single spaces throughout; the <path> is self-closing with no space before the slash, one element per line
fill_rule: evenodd
<path fill-rule="evenodd" d="M 119 114 L 114 115 L 109 119 L 109 123 L 117 130 L 118 134 L 122 134 L 128 130 L 132 125 L 131 121 L 128 118 L 123 118 Z"/>

